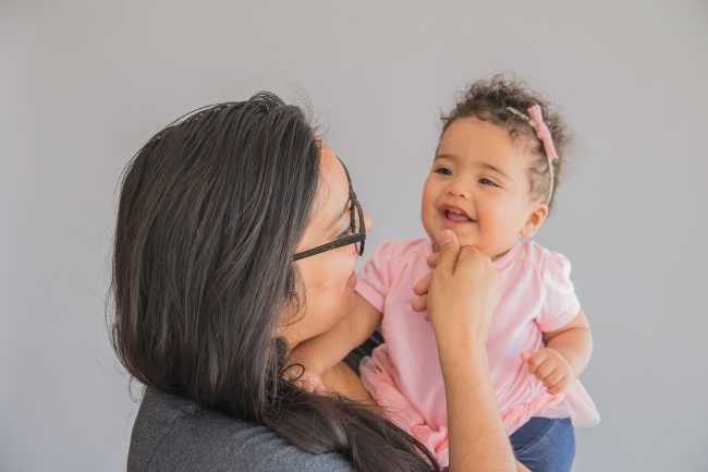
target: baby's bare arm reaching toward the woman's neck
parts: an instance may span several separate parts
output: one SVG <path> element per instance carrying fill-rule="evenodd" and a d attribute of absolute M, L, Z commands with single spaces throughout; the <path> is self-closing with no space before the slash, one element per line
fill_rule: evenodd
<path fill-rule="evenodd" d="M 350 314 L 330 330 L 297 344 L 289 361 L 305 367 L 305 383 L 318 385 L 322 373 L 332 368 L 371 336 L 381 324 L 381 312 L 354 292 Z"/>

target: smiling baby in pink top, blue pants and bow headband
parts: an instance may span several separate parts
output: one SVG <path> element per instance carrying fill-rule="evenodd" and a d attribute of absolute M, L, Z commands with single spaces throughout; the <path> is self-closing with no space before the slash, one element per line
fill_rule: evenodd
<path fill-rule="evenodd" d="M 359 274 L 351 315 L 293 351 L 307 379 L 316 384 L 380 325 L 386 343 L 362 361 L 362 383 L 391 421 L 448 465 L 442 373 L 414 289 L 425 291 L 428 259 L 442 232 L 452 230 L 461 245 L 477 247 L 501 273 L 487 350 L 516 458 L 533 471 L 570 471 L 573 426 L 599 422 L 577 379 L 591 355 L 590 328 L 569 261 L 522 241 L 540 229 L 551 208 L 566 134 L 560 117 L 523 84 L 500 76 L 474 83 L 443 118 L 423 189 L 429 239 L 377 249 Z"/>

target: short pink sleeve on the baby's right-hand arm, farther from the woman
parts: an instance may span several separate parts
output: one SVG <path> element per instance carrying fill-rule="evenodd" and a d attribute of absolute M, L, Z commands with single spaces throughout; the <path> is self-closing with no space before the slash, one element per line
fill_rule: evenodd
<path fill-rule="evenodd" d="M 554 331 L 567 325 L 581 311 L 571 281 L 571 263 L 559 253 L 549 253 L 542 271 L 544 301 L 537 319 L 541 331 Z"/>

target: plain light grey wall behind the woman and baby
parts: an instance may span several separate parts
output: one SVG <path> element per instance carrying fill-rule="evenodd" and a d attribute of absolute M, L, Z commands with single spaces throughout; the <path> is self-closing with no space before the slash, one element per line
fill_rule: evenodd
<path fill-rule="evenodd" d="M 136 403 L 103 310 L 119 174 L 154 132 L 308 97 L 373 249 L 423 234 L 438 116 L 496 72 L 577 137 L 538 238 L 595 334 L 603 421 L 574 470 L 708 470 L 707 46 L 705 0 L 0 2 L 0 470 L 125 467 Z"/>

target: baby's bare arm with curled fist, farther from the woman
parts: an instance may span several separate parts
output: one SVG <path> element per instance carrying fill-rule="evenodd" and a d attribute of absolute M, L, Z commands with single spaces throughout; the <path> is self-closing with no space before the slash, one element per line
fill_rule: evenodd
<path fill-rule="evenodd" d="M 585 314 L 579 312 L 567 325 L 544 332 L 546 348 L 523 353 L 529 371 L 548 388 L 549 394 L 564 391 L 579 377 L 593 355 L 593 335 Z"/>

